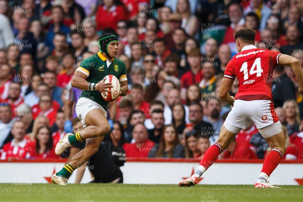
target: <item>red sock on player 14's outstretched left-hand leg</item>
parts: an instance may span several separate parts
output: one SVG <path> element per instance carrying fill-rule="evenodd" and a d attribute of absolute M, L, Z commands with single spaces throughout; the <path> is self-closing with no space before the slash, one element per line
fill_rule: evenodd
<path fill-rule="evenodd" d="M 219 155 L 221 154 L 221 151 L 221 146 L 217 143 L 214 143 L 207 149 L 199 165 L 203 166 L 207 170 L 218 159 Z"/>

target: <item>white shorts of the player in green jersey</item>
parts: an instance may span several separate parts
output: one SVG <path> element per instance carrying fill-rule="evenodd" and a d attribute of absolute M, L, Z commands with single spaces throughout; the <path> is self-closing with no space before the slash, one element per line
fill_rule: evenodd
<path fill-rule="evenodd" d="M 87 113 L 93 109 L 100 109 L 103 112 L 104 116 L 107 117 L 107 112 L 105 111 L 105 109 L 99 104 L 97 104 L 96 102 L 86 97 L 81 97 L 80 99 L 78 99 L 75 110 L 77 117 L 80 119 L 80 121 L 83 124 L 83 127 L 87 126 L 85 124 L 85 117 Z"/>

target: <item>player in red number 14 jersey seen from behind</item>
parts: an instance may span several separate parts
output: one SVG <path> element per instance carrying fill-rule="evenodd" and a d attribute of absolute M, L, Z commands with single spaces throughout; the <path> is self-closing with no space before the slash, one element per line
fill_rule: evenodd
<path fill-rule="evenodd" d="M 299 84 L 298 92 L 301 94 L 303 72 L 297 59 L 268 49 L 257 48 L 255 35 L 254 31 L 247 28 L 236 32 L 235 39 L 239 53 L 227 64 L 219 92 L 220 98 L 233 108 L 222 126 L 218 141 L 206 151 L 195 173 L 181 181 L 179 186 L 195 185 L 236 134 L 252 121 L 271 147 L 255 187 L 276 187 L 268 182 L 268 178 L 285 153 L 285 138 L 272 103 L 273 69 L 277 65 L 291 66 Z M 235 78 L 239 80 L 239 90 L 234 98 L 228 92 Z"/>

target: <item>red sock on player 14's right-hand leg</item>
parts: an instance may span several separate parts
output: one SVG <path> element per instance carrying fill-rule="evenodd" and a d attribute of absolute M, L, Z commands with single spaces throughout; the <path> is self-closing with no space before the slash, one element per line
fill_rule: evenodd
<path fill-rule="evenodd" d="M 279 165 L 282 157 L 283 155 L 281 151 L 279 151 L 278 149 L 272 149 L 263 162 L 261 172 L 266 173 L 268 176 L 270 176 Z"/>

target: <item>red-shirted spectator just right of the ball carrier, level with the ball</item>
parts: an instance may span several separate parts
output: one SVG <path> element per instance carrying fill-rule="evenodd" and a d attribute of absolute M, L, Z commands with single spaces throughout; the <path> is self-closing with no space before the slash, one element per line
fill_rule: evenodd
<path fill-rule="evenodd" d="M 139 110 L 140 112 L 148 112 L 149 103 L 143 99 L 143 87 L 140 84 L 133 84 L 131 86 L 130 95 L 132 97 L 132 102 L 134 105 L 134 110 Z M 149 114 L 146 113 L 145 118 L 149 118 Z"/>

